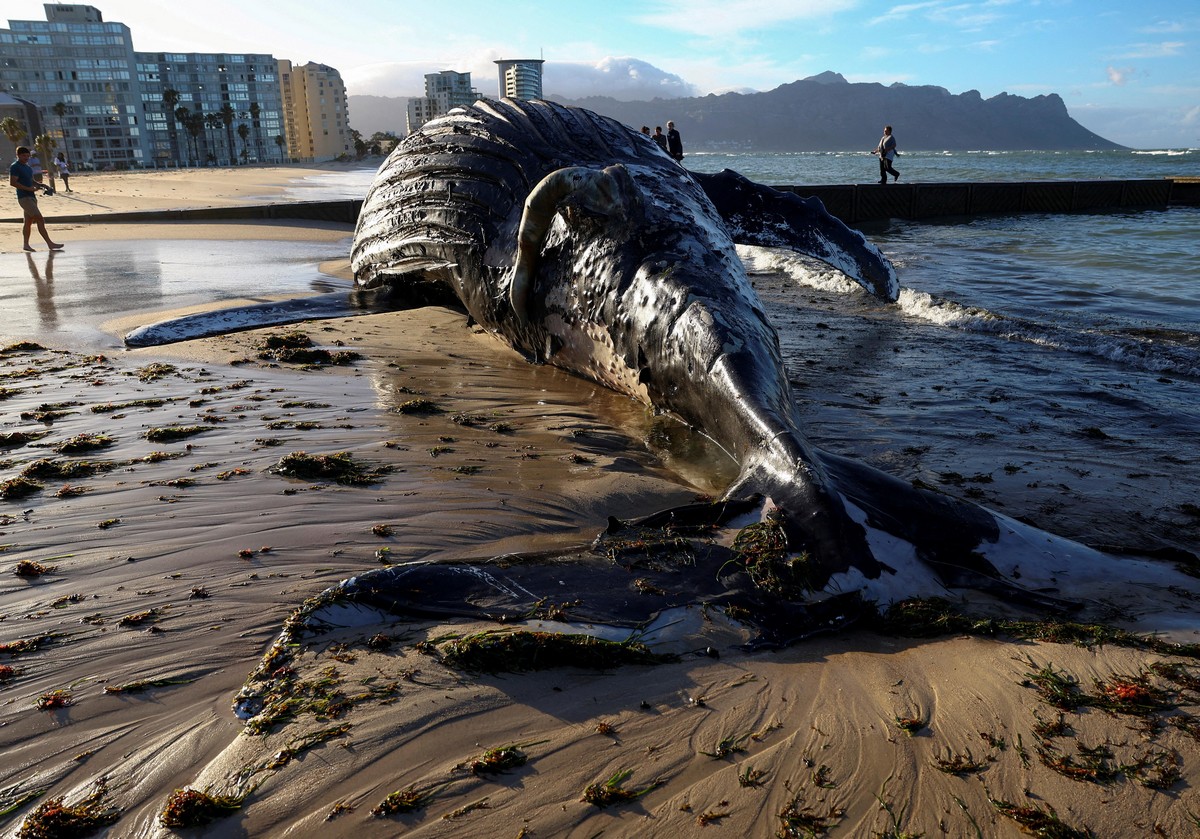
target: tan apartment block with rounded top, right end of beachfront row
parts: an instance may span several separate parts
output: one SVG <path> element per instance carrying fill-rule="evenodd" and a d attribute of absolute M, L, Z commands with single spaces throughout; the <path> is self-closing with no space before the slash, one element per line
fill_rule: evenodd
<path fill-rule="evenodd" d="M 278 61 L 288 155 L 293 160 L 331 160 L 354 152 L 342 76 L 310 61 Z"/>

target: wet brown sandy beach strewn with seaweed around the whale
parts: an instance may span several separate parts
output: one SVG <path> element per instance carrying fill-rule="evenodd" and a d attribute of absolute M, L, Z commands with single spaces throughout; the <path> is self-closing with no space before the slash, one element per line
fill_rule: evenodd
<path fill-rule="evenodd" d="M 96 212 L 221 206 L 268 203 L 305 172 L 72 186 Z M 68 251 L 353 232 L 56 224 L 56 200 L 42 206 Z M 5 224 L 0 259 L 23 264 L 19 247 Z M 349 278 L 346 259 L 320 269 Z M 272 354 L 292 332 L 324 358 Z M 313 599 L 365 571 L 566 551 L 608 516 L 724 489 L 727 473 L 647 444 L 662 418 L 460 313 L 104 353 L 0 334 L 5 837 L 43 835 L 55 801 L 86 804 L 108 837 L 1196 835 L 1190 649 L 864 625 L 746 652 L 734 622 L 694 610 L 671 661 L 487 672 L 448 643 L 516 627 L 323 622 L 337 604 Z M 346 453 L 353 480 L 289 474 L 298 453 Z M 1109 619 L 1195 643 L 1195 592 Z M 562 629 L 586 597 L 564 591 L 521 628 Z M 239 717 L 239 694 L 263 713 Z"/>

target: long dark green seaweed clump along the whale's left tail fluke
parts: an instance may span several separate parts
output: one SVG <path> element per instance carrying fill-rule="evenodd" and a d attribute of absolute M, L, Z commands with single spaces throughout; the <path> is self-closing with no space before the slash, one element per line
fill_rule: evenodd
<path fill-rule="evenodd" d="M 473 672 L 522 672 L 553 667 L 607 670 L 625 664 L 664 664 L 676 655 L 652 652 L 634 640 L 606 641 L 594 635 L 504 631 L 454 639 L 440 648 L 443 664 Z"/>

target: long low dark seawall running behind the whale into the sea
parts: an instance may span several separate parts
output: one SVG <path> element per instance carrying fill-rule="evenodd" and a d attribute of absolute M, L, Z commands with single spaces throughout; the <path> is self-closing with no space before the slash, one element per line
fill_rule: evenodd
<path fill-rule="evenodd" d="M 1108 210 L 1200 206 L 1200 178 L 1157 180 L 1014 181 L 955 184 L 848 184 L 779 186 L 816 196 L 847 224 L 887 218 L 944 218 L 1022 212 L 1100 212 Z M 47 214 L 47 221 L 71 223 L 299 220 L 354 224 L 361 200 L 148 210 L 85 215 Z M 20 223 L 19 218 L 4 222 Z"/>

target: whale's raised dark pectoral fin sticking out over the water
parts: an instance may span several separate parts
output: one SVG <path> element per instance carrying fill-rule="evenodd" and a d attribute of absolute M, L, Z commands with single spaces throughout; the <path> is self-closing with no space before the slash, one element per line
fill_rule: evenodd
<path fill-rule="evenodd" d="M 725 218 L 733 241 L 788 248 L 836 268 L 881 300 L 899 296 L 900 281 L 887 257 L 829 215 L 818 198 L 755 184 L 731 169 L 692 176 Z"/>

